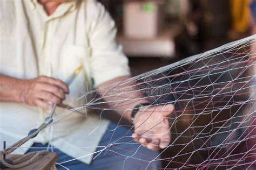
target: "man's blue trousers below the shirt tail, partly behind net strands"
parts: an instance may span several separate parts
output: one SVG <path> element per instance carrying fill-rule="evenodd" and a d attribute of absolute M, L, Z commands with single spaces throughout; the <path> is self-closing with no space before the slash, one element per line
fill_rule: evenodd
<path fill-rule="evenodd" d="M 118 126 L 116 123 L 110 123 L 99 146 L 106 146 L 110 141 L 114 144 L 104 150 L 102 153 L 94 155 L 97 157 L 91 161 L 91 164 L 84 164 L 79 160 L 73 160 L 61 165 L 57 165 L 57 169 L 86 169 L 86 170 L 118 170 L 118 169 L 159 169 L 161 168 L 160 155 L 158 151 L 151 151 L 132 140 L 132 131 L 124 126 Z M 116 145 L 115 145 L 116 144 Z M 45 149 L 48 144 L 43 145 L 35 143 L 28 152 L 39 151 Z M 33 148 L 36 147 L 36 148 Z M 41 148 L 42 147 L 42 148 Z M 102 150 L 98 147 L 96 152 Z M 53 152 L 58 154 L 58 162 L 65 162 L 71 159 L 69 155 L 61 152 L 58 148 L 54 148 Z"/>

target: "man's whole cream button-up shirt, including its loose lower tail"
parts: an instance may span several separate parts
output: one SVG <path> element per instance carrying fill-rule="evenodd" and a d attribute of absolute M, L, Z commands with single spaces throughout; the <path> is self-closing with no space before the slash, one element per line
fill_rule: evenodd
<path fill-rule="evenodd" d="M 85 104 L 84 97 L 78 100 L 83 96 L 81 89 L 130 74 L 127 58 L 116 43 L 114 22 L 101 4 L 93 0 L 62 3 L 48 16 L 36 0 L 0 1 L 0 74 L 19 79 L 45 75 L 65 81 L 80 65 L 82 73 L 70 84 L 63 102 L 72 107 Z M 89 164 L 109 121 L 89 111 L 86 118 L 85 109 L 80 112 L 58 108 L 51 128 L 16 153 L 51 139 L 53 146 L 71 157 L 88 154 L 79 160 Z M 0 102 L 0 142 L 15 143 L 48 115 L 48 110 L 37 107 Z"/>

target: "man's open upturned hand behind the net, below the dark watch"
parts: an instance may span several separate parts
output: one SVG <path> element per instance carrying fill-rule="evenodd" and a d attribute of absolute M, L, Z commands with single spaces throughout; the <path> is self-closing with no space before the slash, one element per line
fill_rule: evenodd
<path fill-rule="evenodd" d="M 159 150 L 159 148 L 168 146 L 171 134 L 166 117 L 171 114 L 173 109 L 172 104 L 140 109 L 133 121 L 133 139 L 150 150 Z"/>

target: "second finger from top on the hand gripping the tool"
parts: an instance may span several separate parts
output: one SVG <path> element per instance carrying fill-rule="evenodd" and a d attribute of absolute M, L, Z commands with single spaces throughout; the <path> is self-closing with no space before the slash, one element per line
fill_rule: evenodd
<path fill-rule="evenodd" d="M 38 84 L 39 90 L 48 91 L 56 96 L 58 96 L 60 99 L 65 99 L 65 94 L 62 89 L 58 88 L 55 85 L 52 84 L 46 84 L 46 83 L 39 83 Z"/>

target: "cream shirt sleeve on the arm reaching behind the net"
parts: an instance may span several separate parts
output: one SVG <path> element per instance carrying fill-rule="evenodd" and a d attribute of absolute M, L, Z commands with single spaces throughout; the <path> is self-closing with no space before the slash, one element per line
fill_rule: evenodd
<path fill-rule="evenodd" d="M 130 75 L 128 59 L 117 44 L 117 29 L 104 6 L 95 1 L 87 4 L 91 76 L 95 86 L 119 76 Z"/>

